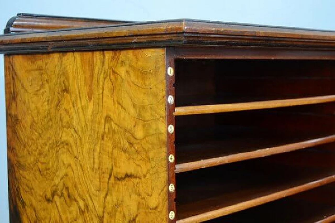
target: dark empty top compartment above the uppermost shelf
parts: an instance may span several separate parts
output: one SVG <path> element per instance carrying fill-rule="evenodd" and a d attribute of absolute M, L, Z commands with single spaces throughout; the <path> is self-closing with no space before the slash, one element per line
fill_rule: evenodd
<path fill-rule="evenodd" d="M 334 84 L 333 60 L 176 60 L 176 106 L 332 95 Z"/>

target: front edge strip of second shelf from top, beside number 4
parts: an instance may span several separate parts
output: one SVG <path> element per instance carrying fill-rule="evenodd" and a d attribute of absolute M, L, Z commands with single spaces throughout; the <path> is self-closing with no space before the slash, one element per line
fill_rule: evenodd
<path fill-rule="evenodd" d="M 264 157 L 264 156 L 274 155 L 278 153 L 283 153 L 283 152 L 288 152 L 288 151 L 293 151 L 293 150 L 298 150 L 298 149 L 304 149 L 307 147 L 317 146 L 317 145 L 330 143 L 330 142 L 335 142 L 335 135 L 313 139 L 313 140 L 306 140 L 303 142 L 286 144 L 282 146 L 275 146 L 272 148 L 264 148 L 264 149 L 258 149 L 255 151 L 215 157 L 211 159 L 181 163 L 181 164 L 176 165 L 175 172 L 180 173 L 180 172 L 186 172 L 186 171 L 200 169 L 200 168 L 207 168 L 211 166 L 238 162 L 238 161 L 247 160 L 247 159 L 254 159 L 258 157 Z"/>

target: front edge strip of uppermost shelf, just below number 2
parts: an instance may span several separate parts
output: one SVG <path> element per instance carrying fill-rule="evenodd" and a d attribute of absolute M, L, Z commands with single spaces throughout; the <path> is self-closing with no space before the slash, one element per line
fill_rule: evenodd
<path fill-rule="evenodd" d="M 174 115 L 183 116 L 183 115 L 210 114 L 210 113 L 219 113 L 228 111 L 243 111 L 243 110 L 288 107 L 288 106 L 297 106 L 306 104 L 318 104 L 332 101 L 335 101 L 335 95 L 294 98 L 285 100 L 232 103 L 232 104 L 183 106 L 183 107 L 176 107 Z"/>

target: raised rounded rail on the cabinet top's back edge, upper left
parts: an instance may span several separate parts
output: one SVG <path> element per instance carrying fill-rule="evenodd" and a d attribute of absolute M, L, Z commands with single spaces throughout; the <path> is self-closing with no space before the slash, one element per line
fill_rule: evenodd
<path fill-rule="evenodd" d="M 4 33 L 41 32 L 52 29 L 107 26 L 129 22 L 133 21 L 19 13 L 8 20 Z"/>

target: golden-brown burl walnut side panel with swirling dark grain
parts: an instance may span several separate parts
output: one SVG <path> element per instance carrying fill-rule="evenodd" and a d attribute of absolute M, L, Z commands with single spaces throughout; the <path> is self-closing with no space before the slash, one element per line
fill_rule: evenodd
<path fill-rule="evenodd" d="M 12 222 L 167 222 L 165 50 L 6 55 Z"/>

